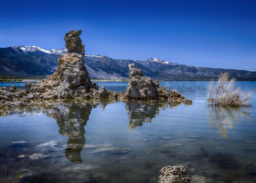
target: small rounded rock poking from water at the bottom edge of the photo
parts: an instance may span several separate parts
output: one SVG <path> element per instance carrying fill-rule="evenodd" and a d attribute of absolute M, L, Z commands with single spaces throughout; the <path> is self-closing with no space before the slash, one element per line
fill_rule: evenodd
<path fill-rule="evenodd" d="M 160 170 L 159 183 L 189 183 L 184 166 L 164 166 Z"/>

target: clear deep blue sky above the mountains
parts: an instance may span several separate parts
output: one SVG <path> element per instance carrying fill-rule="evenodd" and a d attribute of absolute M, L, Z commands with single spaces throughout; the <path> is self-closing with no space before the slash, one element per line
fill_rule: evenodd
<path fill-rule="evenodd" d="M 256 0 L 0 3 L 0 47 L 61 49 L 82 29 L 86 54 L 256 71 Z"/>

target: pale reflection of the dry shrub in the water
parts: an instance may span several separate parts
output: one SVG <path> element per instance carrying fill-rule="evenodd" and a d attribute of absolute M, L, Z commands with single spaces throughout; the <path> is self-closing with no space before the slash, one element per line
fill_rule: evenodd
<path fill-rule="evenodd" d="M 242 122 L 253 122 L 248 107 L 216 107 L 207 106 L 207 116 L 210 127 L 217 127 L 222 138 L 228 138 L 228 129 L 234 130 L 234 125 Z"/>

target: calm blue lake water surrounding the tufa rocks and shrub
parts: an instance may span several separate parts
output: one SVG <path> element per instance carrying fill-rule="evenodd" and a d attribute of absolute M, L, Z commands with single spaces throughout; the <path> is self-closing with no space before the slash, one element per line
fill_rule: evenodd
<path fill-rule="evenodd" d="M 68 102 L 2 114 L 0 182 L 158 182 L 163 166 L 178 164 L 193 182 L 256 182 L 255 93 L 252 107 L 212 108 L 209 82 L 160 84 L 193 105 Z M 254 81 L 236 86 L 256 91 Z"/>

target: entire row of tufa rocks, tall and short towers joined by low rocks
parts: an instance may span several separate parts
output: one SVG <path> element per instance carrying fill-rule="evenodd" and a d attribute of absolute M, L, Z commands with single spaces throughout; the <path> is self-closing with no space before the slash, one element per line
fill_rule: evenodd
<path fill-rule="evenodd" d="M 0 108 L 24 107 L 31 100 L 38 99 L 91 99 L 91 100 L 168 100 L 169 104 L 192 104 L 177 90 L 161 87 L 158 81 L 150 77 L 143 77 L 143 72 L 134 64 L 129 65 L 129 83 L 125 92 L 117 93 L 100 88 L 93 83 L 84 67 L 84 45 L 82 44 L 81 30 L 68 32 L 65 39 L 67 53 L 58 61 L 58 68 L 51 76 L 47 76 L 38 83 L 26 83 L 27 90 L 0 87 Z"/>

